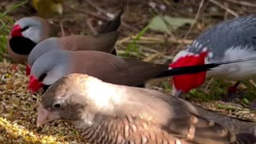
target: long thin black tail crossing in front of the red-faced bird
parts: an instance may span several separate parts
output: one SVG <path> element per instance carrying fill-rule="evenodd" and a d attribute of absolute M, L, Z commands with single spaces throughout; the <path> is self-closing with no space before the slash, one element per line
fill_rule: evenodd
<path fill-rule="evenodd" d="M 209 71 L 212 70 L 212 68 L 226 65 L 230 63 L 236 63 L 236 62 L 247 62 L 247 61 L 254 61 L 256 58 L 245 58 L 245 59 L 238 59 L 233 61 L 226 61 L 226 62 L 215 62 L 215 63 L 209 63 L 205 65 L 197 65 L 197 66 L 181 66 L 181 67 L 175 67 L 170 70 L 166 70 L 162 74 L 158 74 L 158 76 L 154 78 L 162 78 L 162 77 L 170 77 L 174 75 L 181 75 L 181 74 L 194 74 L 199 73 L 202 71 Z"/>

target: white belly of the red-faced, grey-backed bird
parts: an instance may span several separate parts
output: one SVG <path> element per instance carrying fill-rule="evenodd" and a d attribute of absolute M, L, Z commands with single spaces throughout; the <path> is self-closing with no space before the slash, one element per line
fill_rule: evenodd
<path fill-rule="evenodd" d="M 256 52 L 253 49 L 234 47 L 226 50 L 221 62 L 238 60 L 244 58 L 253 58 Z M 220 62 L 212 60 L 212 62 Z M 207 72 L 207 77 L 218 77 L 230 80 L 246 80 L 256 76 L 256 61 L 237 62 L 218 66 Z"/>

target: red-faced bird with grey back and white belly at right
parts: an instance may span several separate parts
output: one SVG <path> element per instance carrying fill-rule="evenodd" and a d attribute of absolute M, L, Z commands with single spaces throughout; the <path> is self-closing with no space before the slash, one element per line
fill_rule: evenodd
<path fill-rule="evenodd" d="M 212 26 L 196 38 L 185 50 L 175 55 L 170 67 L 195 66 L 211 62 L 252 58 L 256 56 L 256 15 L 250 14 L 226 20 Z M 172 78 L 173 95 L 187 93 L 201 86 L 206 77 L 217 77 L 237 81 L 228 89 L 234 94 L 239 82 L 254 78 L 256 63 L 239 62 L 218 66 L 198 74 L 185 74 Z M 229 98 L 228 98 L 229 99 Z"/>

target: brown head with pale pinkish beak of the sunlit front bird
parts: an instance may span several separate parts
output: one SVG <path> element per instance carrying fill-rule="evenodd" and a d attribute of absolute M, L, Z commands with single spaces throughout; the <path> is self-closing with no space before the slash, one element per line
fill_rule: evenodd
<path fill-rule="evenodd" d="M 42 96 L 37 125 L 41 126 L 56 119 L 74 122 L 82 120 L 90 125 L 97 111 L 96 103 L 104 100 L 102 98 L 103 100 L 96 101 L 91 89 L 98 89 L 97 86 L 101 86 L 101 83 L 98 78 L 86 74 L 69 74 L 58 79 Z"/>

